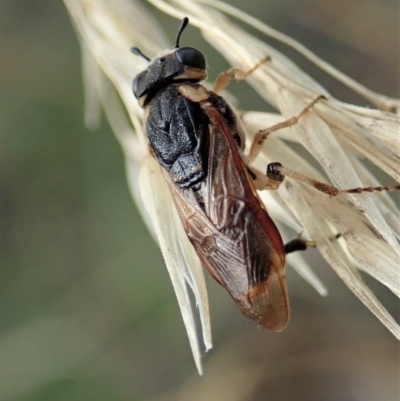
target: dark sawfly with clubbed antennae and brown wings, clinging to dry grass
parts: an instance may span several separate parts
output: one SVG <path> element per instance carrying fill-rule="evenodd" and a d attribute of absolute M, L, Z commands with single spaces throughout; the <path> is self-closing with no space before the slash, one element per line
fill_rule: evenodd
<path fill-rule="evenodd" d="M 185 232 L 202 263 L 224 287 L 244 315 L 270 331 L 280 331 L 290 316 L 285 279 L 286 254 L 309 245 L 296 239 L 284 245 L 257 189 L 277 188 L 292 176 L 331 196 L 391 190 L 396 187 L 338 190 L 271 163 L 263 174 L 250 166 L 267 135 L 282 123 L 260 131 L 250 155 L 244 156 L 245 134 L 231 106 L 217 93 L 230 78 L 243 79 L 252 70 L 222 73 L 215 90 L 200 84 L 207 78 L 204 55 L 175 47 L 150 60 L 138 48 L 132 52 L 150 62 L 133 81 L 133 93 L 145 109 L 144 126 L 151 154 L 158 160 Z M 315 99 L 297 122 L 323 97 Z"/>

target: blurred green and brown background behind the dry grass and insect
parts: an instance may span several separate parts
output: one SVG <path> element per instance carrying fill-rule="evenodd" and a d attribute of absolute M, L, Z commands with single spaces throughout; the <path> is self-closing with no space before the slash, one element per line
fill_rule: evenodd
<path fill-rule="evenodd" d="M 396 0 L 230 3 L 399 95 Z M 160 21 L 173 38 L 177 22 Z M 188 32 L 184 41 L 199 45 Z M 289 268 L 292 320 L 280 334 L 258 330 L 208 280 L 214 349 L 199 377 L 122 152 L 104 119 L 95 132 L 83 125 L 80 50 L 63 3 L 0 0 L 0 46 L 2 401 L 399 399 L 397 341 L 314 251 L 330 295 Z M 334 95 L 365 104 L 286 54 Z M 214 55 L 211 77 L 226 67 Z M 230 90 L 243 108 L 259 108 L 245 86 Z M 395 297 L 366 280 L 396 315 Z"/>

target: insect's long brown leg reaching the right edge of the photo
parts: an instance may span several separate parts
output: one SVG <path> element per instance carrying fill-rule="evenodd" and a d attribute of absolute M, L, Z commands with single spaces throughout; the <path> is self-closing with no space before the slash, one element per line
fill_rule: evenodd
<path fill-rule="evenodd" d="M 325 184 L 321 181 L 317 181 L 314 178 L 307 177 L 297 171 L 290 170 L 281 163 L 270 163 L 267 166 L 267 177 L 271 180 L 276 180 L 278 182 L 283 181 L 284 177 L 288 176 L 294 178 L 298 181 L 304 182 L 329 196 L 337 196 L 344 194 L 359 194 L 362 192 L 382 192 L 382 191 L 396 191 L 400 190 L 400 184 L 389 185 L 389 186 L 379 186 L 379 187 L 358 187 L 351 189 L 338 189 L 332 185 Z"/>

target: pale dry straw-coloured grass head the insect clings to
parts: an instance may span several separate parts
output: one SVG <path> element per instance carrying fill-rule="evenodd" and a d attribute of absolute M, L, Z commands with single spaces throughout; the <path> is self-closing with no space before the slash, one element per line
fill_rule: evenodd
<path fill-rule="evenodd" d="M 190 287 L 196 298 L 207 350 L 212 344 L 203 270 L 182 229 L 158 164 L 148 153 L 142 127 L 143 111 L 131 90 L 133 77 L 147 67 L 147 62 L 133 57 L 130 47 L 138 46 L 145 54 L 156 56 L 169 44 L 160 31 L 160 24 L 132 0 L 64 2 L 82 48 L 86 122 L 89 126 L 97 124 L 101 105 L 122 146 L 132 196 L 160 245 L 201 372 L 200 345 L 187 289 Z M 326 181 L 327 178 L 321 176 L 323 171 L 339 188 L 377 186 L 379 182 L 362 162 L 366 159 L 395 182 L 400 182 L 400 119 L 396 114 L 400 110 L 399 100 L 368 90 L 293 39 L 222 2 L 149 2 L 178 19 L 188 16 L 191 25 L 199 28 L 204 38 L 232 66 L 246 70 L 266 55 L 271 58 L 252 74 L 249 82 L 280 114 L 241 112 L 248 143 L 258 129 L 295 116 L 318 95 L 326 97 L 326 101 L 316 104 L 293 128 L 268 139 L 255 163 L 260 170 L 271 161 L 279 161 Z M 229 14 L 294 47 L 378 109 L 350 105 L 333 98 L 287 57 L 236 26 Z M 295 153 L 288 141 L 304 146 L 319 163 L 319 169 L 314 168 L 309 159 Z M 390 196 L 379 193 L 330 199 L 291 179 L 286 179 L 279 190 L 264 191 L 260 195 L 278 226 L 283 231 L 290 227 L 310 237 L 346 285 L 400 339 L 400 327 L 360 275 L 360 271 L 367 272 L 400 296 L 399 210 Z M 341 239 L 332 241 L 337 233 L 342 234 Z M 291 255 L 289 263 L 321 295 L 326 294 L 324 285 L 301 254 Z"/>

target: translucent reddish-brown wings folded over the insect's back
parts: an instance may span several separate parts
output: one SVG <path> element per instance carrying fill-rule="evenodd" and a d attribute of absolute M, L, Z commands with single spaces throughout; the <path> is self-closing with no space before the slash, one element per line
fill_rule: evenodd
<path fill-rule="evenodd" d="M 210 124 L 203 205 L 191 189 L 170 184 L 185 231 L 211 275 L 242 312 L 271 331 L 289 320 L 285 252 L 280 234 L 257 195 L 237 145 L 218 110 Z"/>

